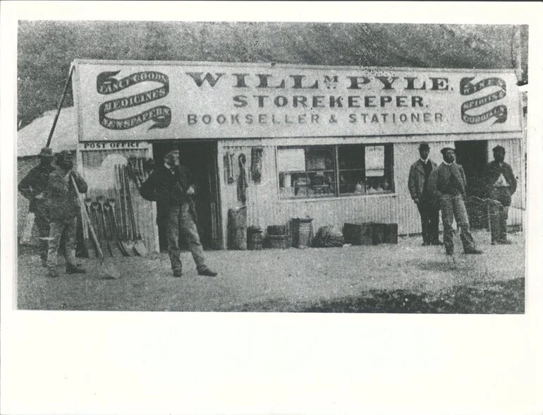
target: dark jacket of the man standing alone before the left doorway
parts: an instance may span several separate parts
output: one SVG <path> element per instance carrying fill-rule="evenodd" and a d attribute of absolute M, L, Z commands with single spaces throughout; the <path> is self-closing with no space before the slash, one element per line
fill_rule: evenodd
<path fill-rule="evenodd" d="M 140 195 L 147 200 L 155 200 L 166 205 L 181 205 L 190 202 L 187 190 L 196 188 L 193 174 L 185 166 L 166 168 L 164 164 L 154 169 L 142 184 Z"/>

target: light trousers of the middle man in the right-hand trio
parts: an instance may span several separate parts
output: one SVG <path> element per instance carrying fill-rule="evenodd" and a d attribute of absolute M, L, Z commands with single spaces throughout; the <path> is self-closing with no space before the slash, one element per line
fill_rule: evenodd
<path fill-rule="evenodd" d="M 470 222 L 468 212 L 465 210 L 464 199 L 462 195 L 447 195 L 441 197 L 441 219 L 443 219 L 443 244 L 445 252 L 451 255 L 454 252 L 454 229 L 453 219 L 460 227 L 460 239 L 464 252 L 475 250 L 475 242 L 470 231 Z"/>

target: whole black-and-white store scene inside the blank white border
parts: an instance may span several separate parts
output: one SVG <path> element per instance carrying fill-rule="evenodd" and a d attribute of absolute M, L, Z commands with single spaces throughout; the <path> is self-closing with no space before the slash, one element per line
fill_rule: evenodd
<path fill-rule="evenodd" d="M 20 21 L 18 308 L 523 313 L 528 37 Z"/>

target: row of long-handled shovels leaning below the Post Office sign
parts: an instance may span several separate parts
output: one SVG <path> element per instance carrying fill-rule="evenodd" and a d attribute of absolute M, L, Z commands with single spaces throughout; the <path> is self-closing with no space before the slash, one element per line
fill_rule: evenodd
<path fill-rule="evenodd" d="M 96 200 L 85 198 L 87 215 L 83 215 L 83 222 L 88 222 L 83 232 L 85 241 L 89 241 L 90 231 L 95 255 L 99 258 L 145 256 L 147 246 L 140 233 L 133 197 L 149 176 L 150 169 L 144 168 L 143 159 L 135 157 L 131 157 L 128 164 L 118 164 L 114 168 L 114 188 L 111 192 L 115 197 L 97 196 Z M 130 182 L 135 184 L 132 189 Z M 93 257 L 92 247 L 89 246 L 91 243 L 86 245 L 89 257 Z"/>

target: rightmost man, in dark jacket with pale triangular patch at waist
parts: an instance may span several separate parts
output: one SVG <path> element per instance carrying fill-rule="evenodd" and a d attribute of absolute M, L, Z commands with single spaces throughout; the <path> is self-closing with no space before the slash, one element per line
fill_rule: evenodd
<path fill-rule="evenodd" d="M 511 196 L 517 190 L 517 179 L 511 166 L 504 162 L 506 149 L 496 145 L 492 149 L 494 161 L 484 169 L 484 186 L 487 198 L 492 199 L 489 206 L 490 235 L 492 245 L 509 244 L 507 239 L 507 214 L 511 205 Z"/>

